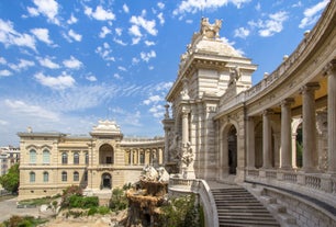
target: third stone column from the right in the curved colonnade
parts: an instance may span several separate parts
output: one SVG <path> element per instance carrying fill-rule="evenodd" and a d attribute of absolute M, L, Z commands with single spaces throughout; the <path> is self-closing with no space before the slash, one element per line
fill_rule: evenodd
<path fill-rule="evenodd" d="M 281 102 L 281 168 L 292 168 L 292 114 L 291 104 L 293 99 L 285 99 Z"/>

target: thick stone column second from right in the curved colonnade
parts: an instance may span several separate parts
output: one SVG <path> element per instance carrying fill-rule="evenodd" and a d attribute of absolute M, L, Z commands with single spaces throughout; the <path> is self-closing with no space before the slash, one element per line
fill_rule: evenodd
<path fill-rule="evenodd" d="M 302 91 L 302 139 L 303 139 L 303 164 L 302 170 L 314 172 L 317 167 L 316 156 L 316 116 L 315 116 L 315 90 L 318 83 L 305 84 Z"/>

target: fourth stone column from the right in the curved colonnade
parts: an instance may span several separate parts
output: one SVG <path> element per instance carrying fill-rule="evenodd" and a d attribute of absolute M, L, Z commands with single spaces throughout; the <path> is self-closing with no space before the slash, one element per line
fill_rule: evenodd
<path fill-rule="evenodd" d="M 262 168 L 271 168 L 272 134 L 270 125 L 271 110 L 265 110 L 262 113 Z"/>

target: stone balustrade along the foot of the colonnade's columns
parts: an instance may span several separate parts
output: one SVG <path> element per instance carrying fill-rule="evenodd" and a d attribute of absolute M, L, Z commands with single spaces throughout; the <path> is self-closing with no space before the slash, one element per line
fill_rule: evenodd
<path fill-rule="evenodd" d="M 247 182 L 282 188 L 336 206 L 336 178 L 327 173 L 295 170 L 246 169 Z"/>

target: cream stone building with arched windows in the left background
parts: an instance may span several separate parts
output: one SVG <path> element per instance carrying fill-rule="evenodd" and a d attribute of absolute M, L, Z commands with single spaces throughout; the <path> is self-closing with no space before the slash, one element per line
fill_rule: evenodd
<path fill-rule="evenodd" d="M 115 122 L 100 121 L 90 137 L 61 133 L 19 133 L 19 198 L 61 193 L 69 185 L 86 192 L 138 181 L 146 164 L 164 161 L 163 138 L 123 138 Z"/>

